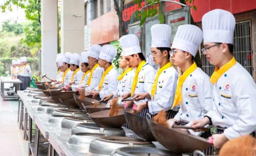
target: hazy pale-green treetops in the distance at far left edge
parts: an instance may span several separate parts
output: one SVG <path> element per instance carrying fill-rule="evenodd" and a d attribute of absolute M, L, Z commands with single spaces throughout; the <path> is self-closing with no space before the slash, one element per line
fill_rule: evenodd
<path fill-rule="evenodd" d="M 14 32 L 16 35 L 22 34 L 24 32 L 23 26 L 17 22 L 10 24 L 9 21 L 4 22 L 2 25 L 3 32 Z"/>

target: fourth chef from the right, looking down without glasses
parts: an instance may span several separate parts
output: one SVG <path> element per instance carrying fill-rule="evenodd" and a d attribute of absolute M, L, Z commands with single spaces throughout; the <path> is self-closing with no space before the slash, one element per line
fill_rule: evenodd
<path fill-rule="evenodd" d="M 146 63 L 144 55 L 140 50 L 138 37 L 134 34 L 124 35 L 120 38 L 124 56 L 128 61 L 128 64 L 132 68 L 136 68 L 135 76 L 132 81 L 131 92 L 122 94 L 123 98 L 133 97 L 134 94 L 148 92 L 151 94 L 152 86 L 154 84 L 154 79 L 156 71 L 152 66 Z M 140 102 L 146 102 L 150 99 L 146 97 L 145 100 L 140 100 Z M 126 107 L 130 107 L 134 104 L 133 101 L 128 101 Z M 139 108 L 138 108 L 139 109 Z M 138 113 L 139 116 L 146 117 L 148 108 L 143 108 Z"/>

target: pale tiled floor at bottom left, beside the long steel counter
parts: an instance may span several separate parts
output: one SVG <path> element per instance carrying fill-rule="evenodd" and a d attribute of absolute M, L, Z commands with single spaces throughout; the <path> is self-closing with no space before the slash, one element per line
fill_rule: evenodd
<path fill-rule="evenodd" d="M 0 156 L 28 156 L 28 142 L 17 122 L 18 101 L 0 97 Z"/>

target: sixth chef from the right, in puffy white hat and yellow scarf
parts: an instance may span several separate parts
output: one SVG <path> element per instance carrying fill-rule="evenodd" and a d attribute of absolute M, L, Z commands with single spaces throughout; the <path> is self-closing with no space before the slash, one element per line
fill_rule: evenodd
<path fill-rule="evenodd" d="M 102 46 L 99 55 L 99 65 L 104 69 L 100 84 L 94 88 L 92 92 L 92 98 L 100 96 L 102 99 L 104 96 L 114 92 L 118 84 L 118 72 L 112 65 L 112 61 L 116 57 L 117 50 L 114 46 L 106 44 Z"/>

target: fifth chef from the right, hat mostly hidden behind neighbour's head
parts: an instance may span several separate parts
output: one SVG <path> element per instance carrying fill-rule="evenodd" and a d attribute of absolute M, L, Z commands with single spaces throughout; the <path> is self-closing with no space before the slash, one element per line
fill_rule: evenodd
<path fill-rule="evenodd" d="M 118 60 L 118 65 L 124 71 L 120 76 L 118 76 L 118 85 L 114 92 L 104 96 L 103 100 L 109 100 L 110 98 L 118 97 L 121 94 L 126 92 L 131 92 L 132 88 L 132 80 L 134 79 L 135 72 L 129 67 L 128 62 L 125 60 L 124 52 L 120 54 L 120 58 Z"/>

